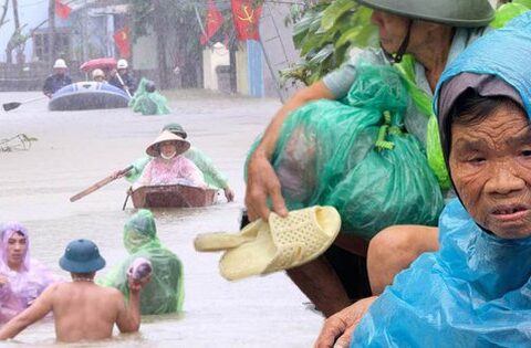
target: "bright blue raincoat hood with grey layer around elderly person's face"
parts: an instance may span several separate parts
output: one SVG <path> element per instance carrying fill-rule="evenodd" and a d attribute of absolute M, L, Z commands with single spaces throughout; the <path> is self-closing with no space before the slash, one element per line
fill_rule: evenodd
<path fill-rule="evenodd" d="M 476 40 L 442 72 L 434 97 L 440 141 L 448 162 L 452 102 L 468 88 L 483 96 L 508 96 L 531 115 L 531 13 Z"/>

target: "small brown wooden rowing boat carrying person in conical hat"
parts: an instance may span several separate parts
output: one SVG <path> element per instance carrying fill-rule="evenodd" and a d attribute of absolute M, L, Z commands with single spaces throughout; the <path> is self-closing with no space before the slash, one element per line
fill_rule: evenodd
<path fill-rule="evenodd" d="M 196 208 L 216 202 L 218 190 L 184 184 L 142 186 L 131 197 L 135 208 Z"/>

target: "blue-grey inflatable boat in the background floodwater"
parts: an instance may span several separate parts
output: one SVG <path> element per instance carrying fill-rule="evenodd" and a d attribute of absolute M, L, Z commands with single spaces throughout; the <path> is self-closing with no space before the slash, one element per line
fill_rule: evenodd
<path fill-rule="evenodd" d="M 48 104 L 50 110 L 85 110 L 127 107 L 129 96 L 108 83 L 76 82 L 55 92 Z"/>

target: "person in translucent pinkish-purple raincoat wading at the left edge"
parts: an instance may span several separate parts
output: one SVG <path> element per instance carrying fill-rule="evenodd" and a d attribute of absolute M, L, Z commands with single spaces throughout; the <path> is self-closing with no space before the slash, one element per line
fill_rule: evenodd
<path fill-rule="evenodd" d="M 30 257 L 28 230 L 10 222 L 0 231 L 0 324 L 9 321 L 59 278 Z"/>

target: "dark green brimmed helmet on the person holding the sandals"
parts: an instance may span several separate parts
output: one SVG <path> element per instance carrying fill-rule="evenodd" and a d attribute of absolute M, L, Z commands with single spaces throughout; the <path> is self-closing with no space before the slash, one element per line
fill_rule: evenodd
<path fill-rule="evenodd" d="M 494 18 L 488 0 L 357 0 L 393 14 L 451 27 L 487 27 Z"/>

